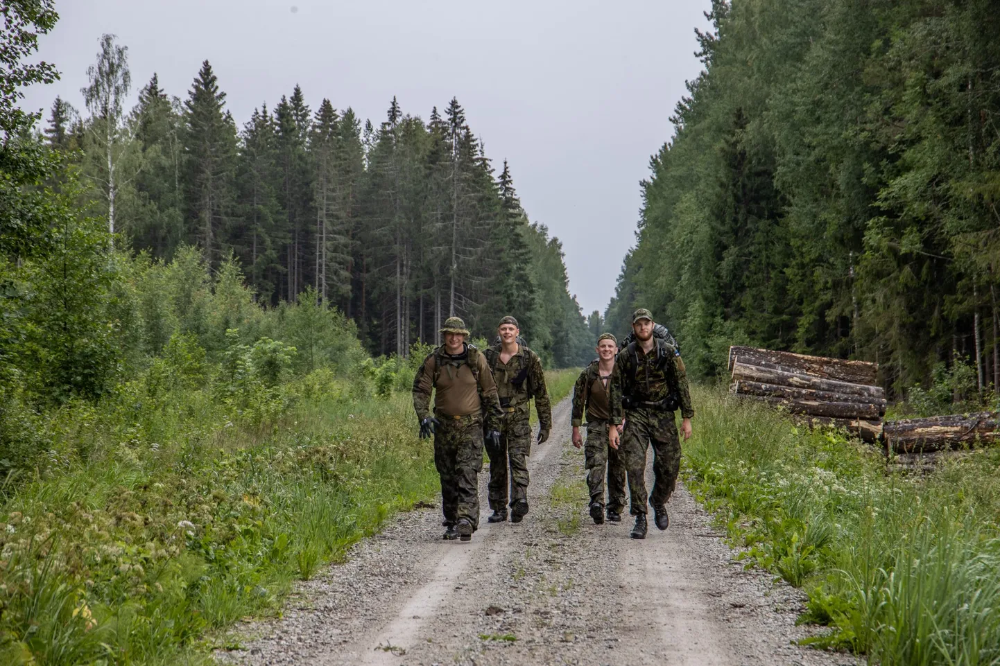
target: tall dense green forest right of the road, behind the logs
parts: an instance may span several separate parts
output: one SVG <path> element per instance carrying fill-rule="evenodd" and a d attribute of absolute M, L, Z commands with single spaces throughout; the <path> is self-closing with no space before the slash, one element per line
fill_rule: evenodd
<path fill-rule="evenodd" d="M 708 17 L 609 323 L 651 308 L 703 376 L 749 342 L 878 361 L 896 389 L 944 363 L 1000 384 L 996 3 L 715 0 Z"/>

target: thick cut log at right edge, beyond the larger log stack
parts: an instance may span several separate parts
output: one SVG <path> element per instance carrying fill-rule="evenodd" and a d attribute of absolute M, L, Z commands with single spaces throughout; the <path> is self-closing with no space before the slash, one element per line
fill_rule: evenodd
<path fill-rule="evenodd" d="M 945 451 L 1000 442 L 1000 414 L 952 414 L 888 421 L 885 439 L 895 453 Z"/>

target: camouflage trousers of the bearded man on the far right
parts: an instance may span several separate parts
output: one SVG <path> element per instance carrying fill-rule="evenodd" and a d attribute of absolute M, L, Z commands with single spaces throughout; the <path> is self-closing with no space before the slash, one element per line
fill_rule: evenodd
<path fill-rule="evenodd" d="M 674 492 L 681 467 L 681 442 L 674 413 L 662 409 L 635 409 L 625 413 L 622 455 L 628 471 L 632 515 L 648 513 L 646 507 L 646 448 L 653 445 L 653 506 L 664 504 Z"/>

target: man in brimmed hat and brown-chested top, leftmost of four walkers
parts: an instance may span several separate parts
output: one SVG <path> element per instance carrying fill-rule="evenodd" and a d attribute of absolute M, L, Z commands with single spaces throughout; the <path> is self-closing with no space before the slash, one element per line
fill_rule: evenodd
<path fill-rule="evenodd" d="M 483 431 L 499 443 L 500 403 L 486 359 L 465 339 L 458 317 L 441 328 L 444 344 L 424 359 L 413 378 L 413 408 L 420 437 L 434 435 L 434 466 L 441 476 L 443 538 L 469 541 L 479 527 L 479 477 L 483 469 Z M 434 414 L 428 409 L 434 389 Z"/>

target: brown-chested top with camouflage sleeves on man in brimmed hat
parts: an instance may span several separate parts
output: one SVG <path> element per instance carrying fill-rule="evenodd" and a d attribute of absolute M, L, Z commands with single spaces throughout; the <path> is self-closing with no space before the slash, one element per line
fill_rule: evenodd
<path fill-rule="evenodd" d="M 475 387 L 475 392 L 472 392 Z M 498 430 L 500 401 L 486 357 L 473 345 L 451 356 L 444 345 L 427 355 L 413 378 L 413 408 L 417 420 L 431 416 L 431 391 L 435 416 L 482 414 L 487 430 Z"/>

